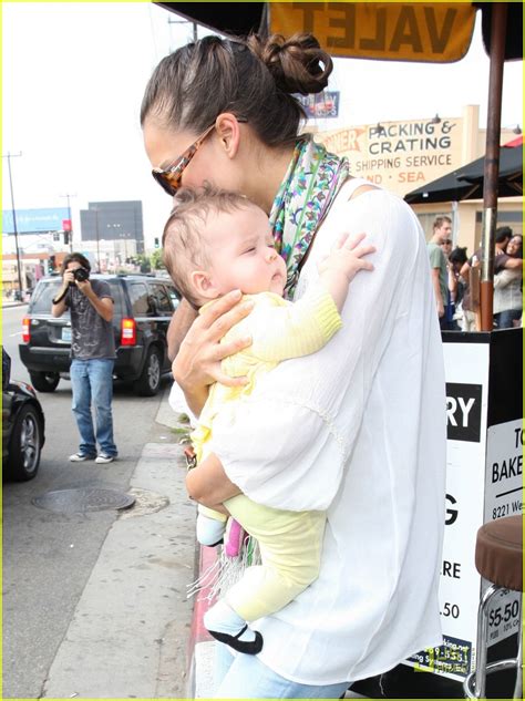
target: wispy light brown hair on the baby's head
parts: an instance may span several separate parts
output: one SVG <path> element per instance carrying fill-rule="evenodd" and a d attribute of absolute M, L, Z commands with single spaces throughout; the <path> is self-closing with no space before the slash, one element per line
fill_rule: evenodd
<path fill-rule="evenodd" d="M 162 237 L 163 260 L 175 287 L 194 308 L 202 301 L 195 296 L 191 274 L 212 262 L 203 237 L 209 216 L 247 207 L 255 205 L 244 195 L 208 184 L 195 189 L 183 187 L 175 195 Z"/>

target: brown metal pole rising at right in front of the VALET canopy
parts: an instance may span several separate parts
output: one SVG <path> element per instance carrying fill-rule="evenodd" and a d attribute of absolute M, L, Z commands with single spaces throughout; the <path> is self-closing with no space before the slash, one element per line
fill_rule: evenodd
<path fill-rule="evenodd" d="M 494 243 L 497 220 L 500 176 L 500 132 L 502 124 L 503 64 L 507 2 L 492 3 L 491 69 L 483 183 L 482 270 L 480 286 L 481 330 L 492 331 L 494 310 Z"/>

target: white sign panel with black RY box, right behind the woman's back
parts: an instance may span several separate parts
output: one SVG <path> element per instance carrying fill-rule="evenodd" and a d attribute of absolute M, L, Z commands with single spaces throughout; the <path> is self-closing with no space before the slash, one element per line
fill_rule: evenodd
<path fill-rule="evenodd" d="M 440 581 L 443 645 L 406 664 L 463 681 L 471 671 L 480 575 L 474 564 L 483 523 L 488 352 L 486 343 L 444 343 L 446 382 L 446 512 Z"/>

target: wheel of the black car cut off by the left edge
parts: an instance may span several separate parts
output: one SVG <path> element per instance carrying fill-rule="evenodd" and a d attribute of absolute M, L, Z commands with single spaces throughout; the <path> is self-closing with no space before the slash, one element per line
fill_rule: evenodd
<path fill-rule="evenodd" d="M 11 480 L 27 482 L 37 475 L 42 451 L 42 433 L 38 410 L 32 404 L 22 406 L 9 444 L 7 474 Z"/>

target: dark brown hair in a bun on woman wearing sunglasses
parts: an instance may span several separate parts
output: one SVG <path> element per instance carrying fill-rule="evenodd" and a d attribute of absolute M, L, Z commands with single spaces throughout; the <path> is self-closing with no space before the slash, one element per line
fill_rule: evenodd
<path fill-rule="evenodd" d="M 147 83 L 141 124 L 204 132 L 223 112 L 243 116 L 267 146 L 292 143 L 305 112 L 292 93 L 319 93 L 332 60 L 312 34 L 245 41 L 205 37 L 165 56 Z"/>

